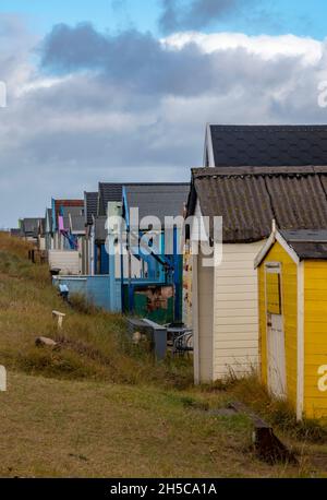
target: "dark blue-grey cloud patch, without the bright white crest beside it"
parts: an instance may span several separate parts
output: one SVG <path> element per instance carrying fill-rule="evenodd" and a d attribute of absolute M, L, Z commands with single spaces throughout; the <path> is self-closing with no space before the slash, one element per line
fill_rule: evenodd
<path fill-rule="evenodd" d="M 149 33 L 132 29 L 110 36 L 89 24 L 56 26 L 43 45 L 41 66 L 57 74 L 92 70 L 152 95 L 197 95 L 216 79 L 211 58 L 194 44 L 171 50 Z"/>

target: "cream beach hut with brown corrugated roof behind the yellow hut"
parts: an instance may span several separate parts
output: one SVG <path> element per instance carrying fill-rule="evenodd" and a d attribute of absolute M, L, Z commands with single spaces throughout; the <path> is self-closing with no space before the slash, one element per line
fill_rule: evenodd
<path fill-rule="evenodd" d="M 258 367 L 254 260 L 271 234 L 274 218 L 281 229 L 327 228 L 326 194 L 327 167 L 192 170 L 187 218 L 222 217 L 221 246 L 216 245 L 211 226 L 206 235 L 190 231 L 192 289 L 187 288 L 187 295 L 192 300 L 196 383 L 243 377 Z M 204 241 L 199 242 L 198 236 Z M 207 265 L 206 242 L 215 261 L 217 255 L 217 265 Z"/>

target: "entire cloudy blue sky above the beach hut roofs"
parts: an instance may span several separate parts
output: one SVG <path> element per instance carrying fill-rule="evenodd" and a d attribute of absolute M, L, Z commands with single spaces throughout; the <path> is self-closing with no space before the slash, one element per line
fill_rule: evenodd
<path fill-rule="evenodd" d="M 1 0 L 0 227 L 99 181 L 189 180 L 206 122 L 327 122 L 326 19 L 325 0 Z"/>

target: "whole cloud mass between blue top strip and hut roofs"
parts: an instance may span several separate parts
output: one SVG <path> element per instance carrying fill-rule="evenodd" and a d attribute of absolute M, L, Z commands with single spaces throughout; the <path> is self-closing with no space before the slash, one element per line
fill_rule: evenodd
<path fill-rule="evenodd" d="M 327 47 L 314 39 L 196 32 L 157 39 L 60 25 L 38 61 L 33 36 L 5 33 L 0 226 L 43 215 L 51 195 L 81 197 L 99 180 L 189 180 L 202 164 L 207 121 L 327 121 L 317 105 Z"/>

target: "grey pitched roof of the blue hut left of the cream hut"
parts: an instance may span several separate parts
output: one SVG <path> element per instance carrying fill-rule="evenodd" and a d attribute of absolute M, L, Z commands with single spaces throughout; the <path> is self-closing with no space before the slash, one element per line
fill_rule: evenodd
<path fill-rule="evenodd" d="M 166 216 L 183 215 L 190 183 L 144 183 L 125 187 L 128 205 L 138 209 L 140 221 L 153 215 L 164 224 Z"/>

